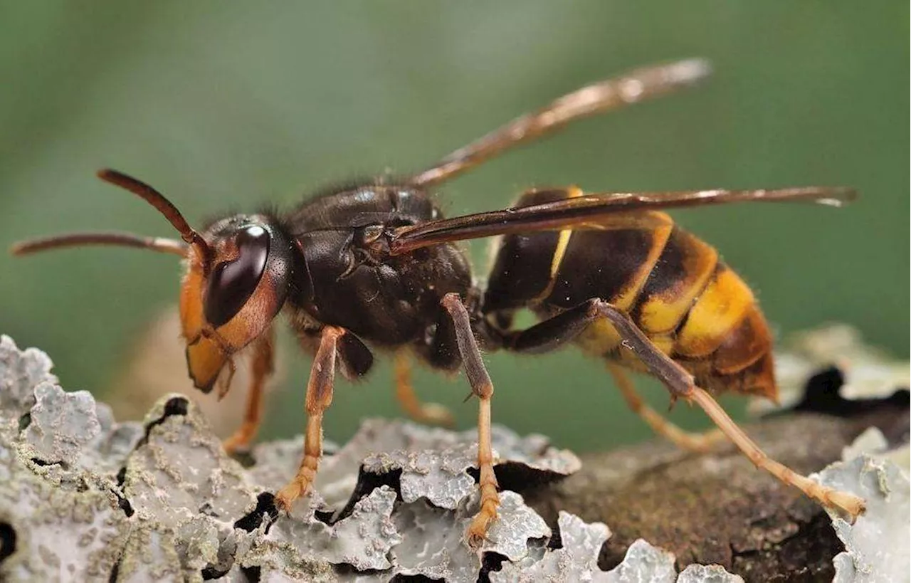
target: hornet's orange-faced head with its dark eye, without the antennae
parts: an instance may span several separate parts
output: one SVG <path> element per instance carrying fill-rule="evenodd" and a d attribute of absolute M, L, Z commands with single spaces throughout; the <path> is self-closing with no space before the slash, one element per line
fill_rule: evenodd
<path fill-rule="evenodd" d="M 208 393 L 234 353 L 265 332 L 288 289 L 284 237 L 264 222 L 222 221 L 206 237 L 210 258 L 191 251 L 180 322 L 193 384 Z M 208 262 L 208 264 L 207 264 Z"/>

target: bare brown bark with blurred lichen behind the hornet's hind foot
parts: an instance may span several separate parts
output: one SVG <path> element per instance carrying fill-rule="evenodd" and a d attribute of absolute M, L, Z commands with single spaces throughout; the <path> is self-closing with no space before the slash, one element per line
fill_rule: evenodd
<path fill-rule="evenodd" d="M 875 422 L 911 430 L 911 410 L 863 418 L 793 414 L 748 426 L 774 458 L 811 473 Z M 901 429 L 901 428 L 904 429 Z M 747 580 L 831 580 L 842 549 L 823 509 L 755 469 L 736 450 L 687 455 L 660 441 L 582 456 L 582 469 L 526 496 L 548 523 L 560 510 L 609 525 L 599 565 L 612 568 L 637 538 L 666 548 L 681 567 L 717 563 Z"/>

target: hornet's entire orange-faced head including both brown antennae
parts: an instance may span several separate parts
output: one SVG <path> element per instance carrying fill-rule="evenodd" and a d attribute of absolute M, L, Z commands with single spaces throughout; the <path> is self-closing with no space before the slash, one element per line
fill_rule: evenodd
<path fill-rule="evenodd" d="M 105 244 L 183 257 L 187 272 L 180 289 L 180 322 L 187 339 L 189 376 L 208 393 L 225 364 L 231 365 L 233 354 L 265 332 L 281 310 L 292 277 L 291 236 L 279 220 L 267 215 L 237 215 L 200 233 L 169 199 L 145 182 L 112 169 L 98 170 L 97 175 L 148 202 L 180 233 L 181 240 L 74 233 L 20 243 L 15 253 Z"/>

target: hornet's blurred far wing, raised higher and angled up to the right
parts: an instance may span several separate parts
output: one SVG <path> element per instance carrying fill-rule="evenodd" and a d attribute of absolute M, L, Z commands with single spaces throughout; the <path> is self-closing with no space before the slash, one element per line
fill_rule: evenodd
<path fill-rule="evenodd" d="M 711 67 L 707 61 L 689 59 L 636 69 L 621 77 L 582 87 L 559 97 L 547 107 L 516 118 L 466 147 L 455 150 L 432 168 L 415 175 L 411 183 L 421 187 L 438 184 L 508 148 L 563 128 L 570 121 L 613 111 L 651 97 L 660 97 L 689 87 L 710 74 Z"/>

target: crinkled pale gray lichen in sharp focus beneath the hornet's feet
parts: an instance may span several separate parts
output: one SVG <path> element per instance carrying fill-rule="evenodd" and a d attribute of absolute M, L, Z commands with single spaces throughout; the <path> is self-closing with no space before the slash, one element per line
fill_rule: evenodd
<path fill-rule="evenodd" d="M 346 445 L 327 447 L 316 492 L 281 515 L 271 492 L 293 475 L 301 439 L 257 446 L 245 468 L 187 397 L 169 395 L 142 423 L 118 424 L 91 394 L 63 391 L 50 369 L 44 353 L 0 336 L 2 580 L 742 580 L 717 565 L 678 573 L 673 554 L 642 539 L 619 565 L 600 568 L 609 527 L 567 512 L 548 526 L 526 504 L 523 495 L 580 467 L 540 435 L 496 427 L 502 505 L 475 551 L 463 540 L 477 505 L 475 432 L 367 420 Z M 911 537 L 911 483 L 895 465 L 911 455 L 887 458 L 884 445 L 865 435 L 847 452 L 864 457 L 820 476 L 870 500 L 855 526 L 834 522 L 846 549 L 839 581 L 883 580 L 878 529 Z M 911 568 L 907 555 L 887 558 Z"/>

